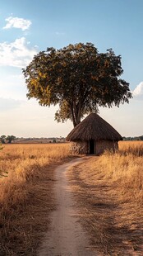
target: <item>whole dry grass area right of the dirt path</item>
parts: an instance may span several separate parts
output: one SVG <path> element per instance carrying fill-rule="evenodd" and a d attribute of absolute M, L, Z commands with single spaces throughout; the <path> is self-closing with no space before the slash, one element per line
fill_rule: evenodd
<path fill-rule="evenodd" d="M 69 179 L 91 244 L 102 255 L 143 255 L 143 142 L 90 157 Z"/>

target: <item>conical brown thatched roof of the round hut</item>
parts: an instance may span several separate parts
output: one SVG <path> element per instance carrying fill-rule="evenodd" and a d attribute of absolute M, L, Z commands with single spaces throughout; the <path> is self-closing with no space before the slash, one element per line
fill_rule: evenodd
<path fill-rule="evenodd" d="M 86 140 L 122 140 L 117 130 L 104 121 L 99 115 L 92 113 L 77 125 L 69 135 L 67 141 Z"/>

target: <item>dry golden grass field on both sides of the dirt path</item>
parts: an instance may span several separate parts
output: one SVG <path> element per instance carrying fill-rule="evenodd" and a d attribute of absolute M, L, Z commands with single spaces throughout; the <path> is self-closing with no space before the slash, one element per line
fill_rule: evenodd
<path fill-rule="evenodd" d="M 56 208 L 54 168 L 71 158 L 69 144 L 0 150 L 0 255 L 36 255 Z M 99 254 L 143 255 L 143 143 L 122 141 L 116 154 L 89 157 L 68 176 Z"/>

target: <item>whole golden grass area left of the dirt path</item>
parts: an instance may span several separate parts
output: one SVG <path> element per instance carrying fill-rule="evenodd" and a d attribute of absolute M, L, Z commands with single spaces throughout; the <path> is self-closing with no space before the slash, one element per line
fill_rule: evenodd
<path fill-rule="evenodd" d="M 0 151 L 0 255 L 35 255 L 48 228 L 55 164 L 69 156 L 68 144 L 5 145 Z"/>

